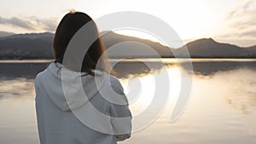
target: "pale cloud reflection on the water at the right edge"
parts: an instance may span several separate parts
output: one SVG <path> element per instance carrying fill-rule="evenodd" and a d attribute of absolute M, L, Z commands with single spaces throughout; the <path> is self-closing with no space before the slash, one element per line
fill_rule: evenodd
<path fill-rule="evenodd" d="M 227 83 L 227 92 L 224 97 L 230 107 L 245 115 L 253 112 L 253 108 L 256 108 L 255 71 L 251 68 L 240 68 L 230 72 L 218 73 L 215 79 L 220 78 Z"/>

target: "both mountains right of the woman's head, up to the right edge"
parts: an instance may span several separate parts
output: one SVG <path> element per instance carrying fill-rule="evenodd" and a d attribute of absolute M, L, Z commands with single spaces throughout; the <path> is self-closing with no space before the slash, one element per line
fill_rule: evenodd
<path fill-rule="evenodd" d="M 102 39 L 107 48 L 114 47 L 115 44 L 130 42 L 116 46 L 116 48 L 111 50 L 108 54 L 110 57 L 157 57 L 157 55 L 152 53 L 152 50 L 150 49 L 152 48 L 157 54 L 164 58 L 187 58 L 188 55 L 186 51 L 189 52 L 189 55 L 192 58 L 256 58 L 256 46 L 241 48 L 229 43 L 218 43 L 212 38 L 201 38 L 187 43 L 182 48 L 172 49 L 147 39 L 119 35 L 114 32 L 105 33 L 107 34 L 103 35 Z M 146 44 L 150 48 L 146 48 L 146 46 L 143 46 L 143 44 L 140 43 Z M 147 50 L 149 50 L 149 52 Z"/>

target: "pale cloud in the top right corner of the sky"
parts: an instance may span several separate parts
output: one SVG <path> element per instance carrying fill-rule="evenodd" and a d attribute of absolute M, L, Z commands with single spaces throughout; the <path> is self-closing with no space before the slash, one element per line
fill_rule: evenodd
<path fill-rule="evenodd" d="M 224 25 L 222 34 L 214 37 L 219 42 L 243 47 L 256 45 L 256 1 L 247 0 L 231 9 L 226 14 Z"/>

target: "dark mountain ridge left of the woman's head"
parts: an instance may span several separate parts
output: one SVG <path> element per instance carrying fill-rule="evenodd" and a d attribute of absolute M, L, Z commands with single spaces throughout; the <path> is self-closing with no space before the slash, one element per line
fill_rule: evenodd
<path fill-rule="evenodd" d="M 53 59 L 53 37 L 49 32 L 0 37 L 0 59 Z"/>

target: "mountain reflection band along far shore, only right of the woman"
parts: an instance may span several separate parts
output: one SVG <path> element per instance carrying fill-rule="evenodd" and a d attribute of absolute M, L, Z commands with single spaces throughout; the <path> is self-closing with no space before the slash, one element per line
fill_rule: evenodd
<path fill-rule="evenodd" d="M 148 66 L 151 66 L 150 68 Z M 188 60 L 183 60 L 177 63 L 175 60 L 165 61 L 119 61 L 114 66 L 114 70 L 118 73 L 118 78 L 143 77 L 152 74 L 155 71 L 160 71 L 162 68 L 182 68 L 184 71 L 191 73 L 190 63 Z M 192 60 L 193 74 L 203 76 L 202 78 L 212 78 L 218 72 L 230 72 L 236 69 L 247 68 L 256 71 L 255 60 Z"/>

